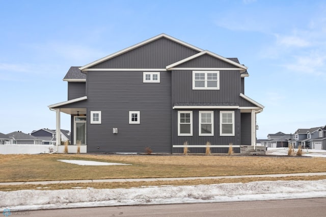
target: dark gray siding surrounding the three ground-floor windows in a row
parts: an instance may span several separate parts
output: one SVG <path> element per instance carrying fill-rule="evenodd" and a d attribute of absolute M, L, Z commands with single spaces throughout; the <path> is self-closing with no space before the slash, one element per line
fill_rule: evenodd
<path fill-rule="evenodd" d="M 234 137 L 220 137 L 220 111 L 230 111 L 230 110 L 214 110 L 214 136 L 205 137 L 199 136 L 199 120 L 198 115 L 199 111 L 203 110 L 187 110 L 193 111 L 193 136 L 180 137 L 178 136 L 178 110 L 173 110 L 172 112 L 172 144 L 173 145 L 183 145 L 185 141 L 188 142 L 188 145 L 203 145 L 203 148 L 192 148 L 192 152 L 204 153 L 206 142 L 210 142 L 211 145 L 240 145 L 240 111 L 234 110 L 235 118 L 235 136 Z M 209 110 L 211 111 L 211 110 Z M 212 152 L 226 153 L 228 148 L 212 148 Z M 174 152 L 182 152 L 182 148 L 174 148 Z M 235 152 L 238 152 L 239 149 L 234 149 Z"/>

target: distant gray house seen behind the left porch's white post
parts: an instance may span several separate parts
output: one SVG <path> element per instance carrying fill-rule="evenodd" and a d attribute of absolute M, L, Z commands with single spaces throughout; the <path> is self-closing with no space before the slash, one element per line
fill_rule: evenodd
<path fill-rule="evenodd" d="M 34 130 L 31 135 L 42 140 L 44 145 L 55 145 L 56 144 L 56 130 L 51 129 L 39 129 Z M 70 131 L 61 129 L 61 141 L 66 142 L 70 141 Z"/>

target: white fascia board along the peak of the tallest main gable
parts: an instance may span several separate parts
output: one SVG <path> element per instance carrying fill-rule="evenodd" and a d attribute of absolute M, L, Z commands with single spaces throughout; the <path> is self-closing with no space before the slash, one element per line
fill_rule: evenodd
<path fill-rule="evenodd" d="M 159 38 L 162 38 L 162 37 L 168 38 L 168 39 L 170 39 L 170 40 L 172 40 L 172 41 L 175 41 L 175 42 L 177 42 L 177 43 L 179 43 L 179 44 L 182 44 L 182 45 L 184 45 L 184 46 L 186 46 L 186 47 L 189 47 L 189 48 L 195 49 L 195 50 L 197 50 L 197 51 L 199 51 L 199 52 L 203 51 L 203 49 L 200 49 L 200 48 L 195 47 L 195 46 L 193 46 L 193 45 L 191 45 L 191 44 L 188 44 L 188 43 L 186 43 L 186 42 L 180 41 L 179 39 L 173 38 L 173 37 L 171 37 L 171 36 L 169 36 L 169 35 L 167 35 L 167 34 L 162 33 L 162 34 L 159 34 L 159 35 L 157 35 L 157 36 L 154 36 L 153 38 L 147 39 L 147 40 L 145 40 L 145 41 L 143 41 L 143 42 L 140 42 L 140 43 L 138 43 L 138 44 L 132 45 L 132 46 L 127 47 L 127 48 L 125 48 L 125 49 L 122 49 L 122 50 L 120 50 L 120 51 L 118 51 L 118 52 L 112 53 L 111 55 L 108 55 L 108 56 L 103 57 L 103 58 L 101 58 L 101 59 L 99 59 L 99 60 L 96 60 L 96 61 L 94 61 L 94 62 L 92 62 L 92 63 L 89 63 L 89 64 L 87 64 L 87 65 L 85 65 L 85 66 L 82 66 L 82 67 L 79 68 L 79 70 L 80 70 L 80 71 L 83 71 L 83 70 L 85 70 L 85 69 L 87 69 L 87 68 L 89 68 L 89 67 L 92 67 L 92 66 L 94 66 L 94 65 L 96 65 L 96 64 L 99 64 L 99 63 L 101 63 L 101 62 L 104 62 L 104 61 L 106 61 L 106 60 L 110 60 L 110 59 L 112 59 L 112 58 L 114 58 L 114 57 L 117 57 L 117 56 L 121 55 L 122 53 L 128 52 L 128 51 L 130 51 L 130 50 L 132 50 L 132 49 L 135 49 L 135 48 L 137 48 L 137 47 L 140 47 L 140 46 L 142 46 L 142 45 L 144 45 L 144 44 L 150 43 L 150 42 L 155 41 L 155 40 L 157 40 L 157 39 L 159 39 Z"/>

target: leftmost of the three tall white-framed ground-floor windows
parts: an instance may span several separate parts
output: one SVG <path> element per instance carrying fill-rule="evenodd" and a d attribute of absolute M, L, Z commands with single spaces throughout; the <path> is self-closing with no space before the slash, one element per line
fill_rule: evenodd
<path fill-rule="evenodd" d="M 193 135 L 193 111 L 178 111 L 178 135 Z"/>

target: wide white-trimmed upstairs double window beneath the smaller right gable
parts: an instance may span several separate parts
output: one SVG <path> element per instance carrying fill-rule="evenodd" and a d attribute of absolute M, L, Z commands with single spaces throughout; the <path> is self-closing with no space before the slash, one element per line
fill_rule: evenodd
<path fill-rule="evenodd" d="M 193 71 L 193 90 L 220 90 L 220 71 Z"/>

